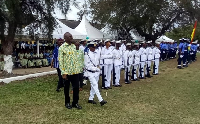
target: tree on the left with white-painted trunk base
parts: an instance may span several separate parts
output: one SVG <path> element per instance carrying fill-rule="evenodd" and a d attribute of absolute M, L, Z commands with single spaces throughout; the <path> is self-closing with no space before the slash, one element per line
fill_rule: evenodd
<path fill-rule="evenodd" d="M 69 2 L 70 0 L 0 0 L 0 40 L 6 73 L 12 72 L 16 31 L 28 25 L 29 29 L 42 29 L 41 31 L 50 37 L 56 24 L 52 16 L 54 8 L 57 6 L 66 14 Z"/>

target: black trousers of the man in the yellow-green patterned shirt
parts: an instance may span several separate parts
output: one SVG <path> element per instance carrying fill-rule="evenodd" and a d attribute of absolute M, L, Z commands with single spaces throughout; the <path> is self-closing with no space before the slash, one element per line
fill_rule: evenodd
<path fill-rule="evenodd" d="M 67 80 L 64 80 L 64 93 L 65 93 L 65 105 L 70 103 L 69 88 L 70 83 L 73 87 L 73 102 L 72 105 L 78 103 L 79 100 L 79 74 L 68 75 Z"/>

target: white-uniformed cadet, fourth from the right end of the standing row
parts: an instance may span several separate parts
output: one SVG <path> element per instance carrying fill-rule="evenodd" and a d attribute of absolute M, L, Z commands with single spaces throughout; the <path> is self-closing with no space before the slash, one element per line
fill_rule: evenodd
<path fill-rule="evenodd" d="M 132 81 L 139 81 L 139 79 L 137 78 L 137 70 L 138 70 L 138 66 L 140 64 L 140 54 L 138 52 L 139 49 L 139 43 L 134 43 L 134 48 L 132 51 L 133 54 L 133 68 L 132 68 L 132 77 L 131 80 Z"/>

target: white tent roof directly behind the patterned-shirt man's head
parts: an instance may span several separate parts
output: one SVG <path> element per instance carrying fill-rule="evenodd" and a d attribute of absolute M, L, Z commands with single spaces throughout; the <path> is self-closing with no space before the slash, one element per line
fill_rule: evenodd
<path fill-rule="evenodd" d="M 67 25 L 63 24 L 61 21 L 59 21 L 58 19 L 56 19 L 58 26 L 57 28 L 53 31 L 53 38 L 56 39 L 63 39 L 64 33 L 69 32 L 72 34 L 73 39 L 85 39 L 86 35 L 79 33 L 77 31 L 75 31 L 74 29 L 71 29 L 70 27 L 68 27 Z"/>

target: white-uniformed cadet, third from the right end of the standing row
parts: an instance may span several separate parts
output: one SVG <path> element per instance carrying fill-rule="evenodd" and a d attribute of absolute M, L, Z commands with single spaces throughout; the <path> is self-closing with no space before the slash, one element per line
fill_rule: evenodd
<path fill-rule="evenodd" d="M 140 64 L 139 64 L 139 78 L 140 79 L 145 79 L 144 77 L 144 67 L 145 67 L 145 62 L 146 62 L 146 49 L 145 49 L 146 44 L 143 42 L 142 46 L 139 49 L 139 55 L 140 55 Z"/>

